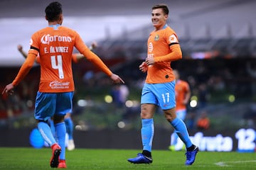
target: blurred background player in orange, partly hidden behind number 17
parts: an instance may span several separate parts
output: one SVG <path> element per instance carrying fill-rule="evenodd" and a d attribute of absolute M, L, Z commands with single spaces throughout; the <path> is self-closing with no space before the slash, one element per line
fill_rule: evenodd
<path fill-rule="evenodd" d="M 191 90 L 189 88 L 189 84 L 187 81 L 181 80 L 178 70 L 174 70 L 174 75 L 176 77 L 176 84 L 175 84 L 175 96 L 176 96 L 176 115 L 177 118 L 181 120 L 185 120 L 186 118 L 186 105 L 191 97 Z M 178 135 L 174 132 L 171 135 L 171 145 L 169 149 L 171 151 L 181 150 L 176 146 L 178 141 Z"/>

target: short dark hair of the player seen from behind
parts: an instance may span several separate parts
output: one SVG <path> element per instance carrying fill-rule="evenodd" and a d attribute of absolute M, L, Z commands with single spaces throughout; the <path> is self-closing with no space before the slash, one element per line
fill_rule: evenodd
<path fill-rule="evenodd" d="M 46 6 L 45 12 L 48 21 L 57 21 L 62 14 L 62 5 L 58 1 L 54 1 Z"/>

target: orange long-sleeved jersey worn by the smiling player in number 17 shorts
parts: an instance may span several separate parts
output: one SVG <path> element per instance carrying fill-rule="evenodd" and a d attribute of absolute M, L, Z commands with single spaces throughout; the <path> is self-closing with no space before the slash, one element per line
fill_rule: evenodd
<path fill-rule="evenodd" d="M 154 64 L 149 65 L 146 83 L 159 84 L 174 81 L 171 61 L 182 57 L 181 47 L 174 30 L 164 26 L 161 30 L 152 31 L 147 42 L 147 56 L 154 57 Z"/>

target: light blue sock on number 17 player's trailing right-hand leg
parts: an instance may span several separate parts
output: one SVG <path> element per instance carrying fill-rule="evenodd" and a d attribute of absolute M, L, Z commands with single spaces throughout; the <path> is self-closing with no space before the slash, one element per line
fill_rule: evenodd
<path fill-rule="evenodd" d="M 183 121 L 180 118 L 175 118 L 171 121 L 171 125 L 176 130 L 178 137 L 180 137 L 183 143 L 186 145 L 186 148 L 191 147 L 192 142 L 189 138 L 188 130 L 186 128 L 185 123 L 183 123 Z"/>

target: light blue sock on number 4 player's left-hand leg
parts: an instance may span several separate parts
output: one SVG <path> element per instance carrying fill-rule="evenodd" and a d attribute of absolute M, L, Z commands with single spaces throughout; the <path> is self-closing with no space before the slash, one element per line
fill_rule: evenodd
<path fill-rule="evenodd" d="M 53 133 L 50 130 L 50 126 L 47 123 L 38 123 L 38 130 L 41 133 L 43 140 L 45 140 L 50 147 L 56 143 L 56 140 L 53 137 Z"/>

